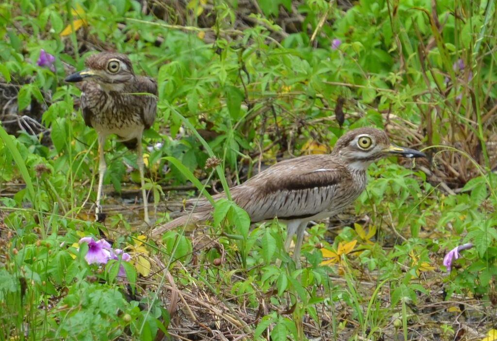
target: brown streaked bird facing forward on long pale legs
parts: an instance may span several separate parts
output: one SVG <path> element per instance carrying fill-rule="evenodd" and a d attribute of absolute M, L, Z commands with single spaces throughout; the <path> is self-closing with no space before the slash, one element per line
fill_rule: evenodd
<path fill-rule="evenodd" d="M 157 82 L 137 76 L 131 61 L 125 55 L 101 52 L 86 58 L 86 69 L 73 73 L 66 82 L 83 81 L 81 110 L 84 123 L 93 127 L 98 135 L 98 192 L 96 216 L 101 212 L 103 177 L 106 170 L 103 148 L 107 136 L 115 134 L 130 149 L 138 149 L 137 164 L 140 171 L 144 219 L 149 220 L 147 193 L 145 192 L 142 150 L 143 131 L 152 126 L 156 118 Z"/>

